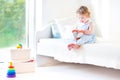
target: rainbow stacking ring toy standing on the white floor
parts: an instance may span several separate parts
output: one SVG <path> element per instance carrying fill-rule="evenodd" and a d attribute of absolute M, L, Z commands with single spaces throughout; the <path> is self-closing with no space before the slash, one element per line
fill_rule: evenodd
<path fill-rule="evenodd" d="M 8 72 L 7 72 L 7 77 L 8 78 L 15 78 L 16 77 L 16 72 L 15 72 L 15 69 L 14 69 L 14 66 L 13 66 L 13 63 L 10 62 L 10 65 L 8 67 Z"/>

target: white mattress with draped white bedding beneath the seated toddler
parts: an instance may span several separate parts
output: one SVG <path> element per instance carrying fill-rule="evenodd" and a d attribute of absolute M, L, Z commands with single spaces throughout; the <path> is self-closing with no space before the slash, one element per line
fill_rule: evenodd
<path fill-rule="evenodd" d="M 85 44 L 78 50 L 69 51 L 63 39 L 41 39 L 37 45 L 37 54 L 54 57 L 62 62 L 120 69 L 120 43 L 113 41 L 98 40 L 94 44 Z"/>

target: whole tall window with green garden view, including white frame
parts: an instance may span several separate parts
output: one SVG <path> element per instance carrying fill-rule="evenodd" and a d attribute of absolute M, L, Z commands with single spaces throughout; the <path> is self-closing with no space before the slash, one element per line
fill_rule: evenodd
<path fill-rule="evenodd" d="M 0 0 L 0 61 L 8 60 L 10 49 L 16 48 L 18 43 L 25 48 L 34 45 L 34 2 Z"/>

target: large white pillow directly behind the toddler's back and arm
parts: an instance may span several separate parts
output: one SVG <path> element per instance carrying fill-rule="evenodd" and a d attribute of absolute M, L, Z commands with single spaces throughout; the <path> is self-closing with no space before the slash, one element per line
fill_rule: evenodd
<path fill-rule="evenodd" d="M 74 18 L 55 19 L 61 38 L 72 38 L 72 30 L 75 29 L 76 20 Z"/>

